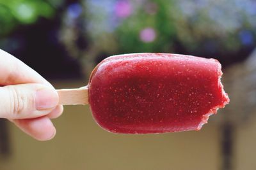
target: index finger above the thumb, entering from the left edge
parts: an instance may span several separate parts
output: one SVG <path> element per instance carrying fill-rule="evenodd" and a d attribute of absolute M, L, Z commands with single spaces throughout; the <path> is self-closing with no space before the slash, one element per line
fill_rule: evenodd
<path fill-rule="evenodd" d="M 51 83 L 24 62 L 0 49 L 0 85 L 24 83 L 43 83 L 52 87 Z"/>

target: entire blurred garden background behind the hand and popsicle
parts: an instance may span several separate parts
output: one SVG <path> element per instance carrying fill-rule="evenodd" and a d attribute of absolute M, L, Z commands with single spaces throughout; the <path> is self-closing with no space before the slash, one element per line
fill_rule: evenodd
<path fill-rule="evenodd" d="M 230 104 L 198 132 L 116 135 L 67 106 L 56 138 L 0 119 L 0 169 L 256 169 L 255 0 L 0 0 L 0 48 L 54 87 L 82 87 L 120 53 L 218 59 Z"/>

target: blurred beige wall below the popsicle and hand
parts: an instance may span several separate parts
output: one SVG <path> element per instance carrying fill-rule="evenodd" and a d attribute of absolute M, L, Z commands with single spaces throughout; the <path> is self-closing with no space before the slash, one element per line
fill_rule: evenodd
<path fill-rule="evenodd" d="M 220 134 L 211 122 L 198 132 L 118 135 L 95 124 L 88 106 L 66 106 L 54 124 L 56 138 L 47 142 L 35 141 L 10 124 L 12 155 L 0 160 L 0 169 L 220 169 Z M 256 124 L 237 134 L 237 170 L 256 167 L 253 129 Z"/>

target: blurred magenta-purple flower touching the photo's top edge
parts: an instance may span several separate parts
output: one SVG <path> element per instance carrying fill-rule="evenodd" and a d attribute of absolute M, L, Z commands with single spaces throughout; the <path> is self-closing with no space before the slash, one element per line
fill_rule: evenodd
<path fill-rule="evenodd" d="M 132 5 L 128 0 L 120 0 L 115 4 L 115 13 L 119 18 L 127 18 L 132 13 Z"/>

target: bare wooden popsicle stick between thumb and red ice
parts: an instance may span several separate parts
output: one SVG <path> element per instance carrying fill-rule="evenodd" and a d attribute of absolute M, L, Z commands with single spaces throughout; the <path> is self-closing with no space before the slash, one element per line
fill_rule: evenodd
<path fill-rule="evenodd" d="M 57 90 L 62 105 L 86 105 L 88 101 L 88 87 L 81 87 L 79 89 L 60 89 Z"/>

